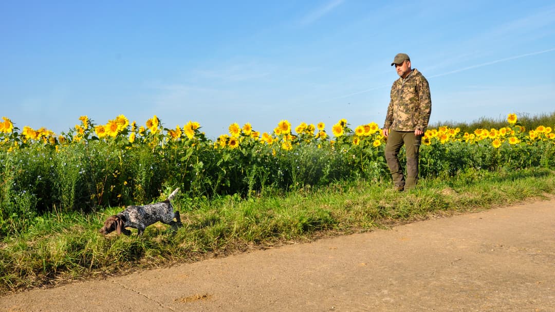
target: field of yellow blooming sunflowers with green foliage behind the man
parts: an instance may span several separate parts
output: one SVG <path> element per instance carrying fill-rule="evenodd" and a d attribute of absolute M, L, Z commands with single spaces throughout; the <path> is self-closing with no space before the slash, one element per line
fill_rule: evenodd
<path fill-rule="evenodd" d="M 2 118 L 0 236 L 17 233 L 44 212 L 90 213 L 150 203 L 175 187 L 193 203 L 222 195 L 261 197 L 341 180 L 391 183 L 386 138 L 374 122 L 351 127 L 341 119 L 327 132 L 324 123 L 292 128 L 281 120 L 272 133 L 233 123 L 228 134 L 211 140 L 197 122 L 164 128 L 156 115 L 144 125 L 129 123 L 124 115 L 106 124 L 87 116 L 79 121 L 57 135 L 45 128 L 19 129 Z M 555 168 L 551 126 L 526 129 L 511 113 L 498 129 L 427 129 L 420 176 Z"/>

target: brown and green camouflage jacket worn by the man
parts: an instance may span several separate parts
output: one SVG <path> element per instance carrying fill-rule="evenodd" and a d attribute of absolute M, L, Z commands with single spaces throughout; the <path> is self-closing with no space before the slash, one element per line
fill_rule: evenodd
<path fill-rule="evenodd" d="M 391 87 L 384 129 L 396 131 L 424 131 L 432 112 L 430 85 L 422 73 L 412 69 L 406 78 L 399 78 Z"/>

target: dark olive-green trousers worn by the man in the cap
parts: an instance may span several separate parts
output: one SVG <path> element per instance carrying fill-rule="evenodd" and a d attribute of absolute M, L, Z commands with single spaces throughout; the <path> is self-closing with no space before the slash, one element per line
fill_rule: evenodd
<path fill-rule="evenodd" d="M 387 167 L 393 178 L 393 184 L 397 189 L 412 189 L 418 183 L 418 157 L 420 153 L 421 135 L 415 135 L 413 131 L 390 130 L 385 145 L 385 159 Z M 407 175 L 403 174 L 403 167 L 399 162 L 399 151 L 405 145 L 407 157 Z"/>

